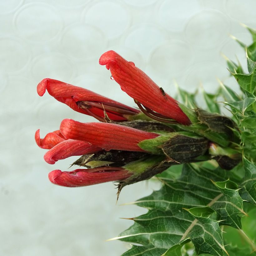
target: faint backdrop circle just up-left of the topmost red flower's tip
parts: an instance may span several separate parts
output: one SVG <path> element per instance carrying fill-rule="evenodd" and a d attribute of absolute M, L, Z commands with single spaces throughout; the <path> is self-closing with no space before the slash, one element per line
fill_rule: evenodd
<path fill-rule="evenodd" d="M 106 49 L 106 37 L 101 30 L 85 23 L 69 26 L 61 43 L 62 52 L 78 59 L 99 57 Z"/>

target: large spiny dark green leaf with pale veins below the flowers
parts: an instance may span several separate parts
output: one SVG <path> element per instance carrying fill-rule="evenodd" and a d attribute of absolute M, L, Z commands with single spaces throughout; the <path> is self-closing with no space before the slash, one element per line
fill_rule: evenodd
<path fill-rule="evenodd" d="M 170 170 L 171 168 L 168 171 Z M 154 191 L 150 196 L 134 203 L 149 209 L 149 211 L 132 218 L 135 223 L 116 239 L 141 244 L 145 247 L 144 249 L 153 245 L 159 250 L 167 251 L 172 246 L 180 244 L 184 239 L 190 238 L 197 252 L 204 251 L 213 255 L 223 255 L 221 253 L 223 242 L 221 233 L 218 233 L 220 232 L 218 223 L 225 216 L 227 223 L 235 225 L 234 218 L 236 218 L 235 221 L 240 218 L 241 212 L 237 209 L 240 209 L 241 205 L 239 195 L 233 193 L 234 198 L 230 198 L 228 193 L 234 192 L 232 189 L 229 189 L 228 195 L 225 195 L 223 188 L 219 188 L 221 185 L 218 183 L 219 187 L 216 187 L 211 180 L 219 182 L 225 181 L 227 178 L 228 172 L 220 168 L 200 169 L 196 165 L 184 165 L 182 174 L 177 180 L 167 177 L 160 178 L 163 182 L 163 187 L 160 190 Z M 213 212 L 213 210 L 209 210 L 209 207 L 204 208 L 202 212 L 202 207 L 207 205 L 216 211 L 216 220 L 207 217 L 207 214 Z M 189 213 L 183 208 L 193 209 L 190 209 Z M 197 209 L 197 213 L 195 209 Z M 202 215 L 201 219 L 199 215 Z M 218 233 L 216 237 L 217 233 L 215 234 L 215 232 Z M 198 234 L 200 234 L 200 238 Z M 133 247 L 133 250 L 135 249 L 137 248 Z M 154 255 L 161 255 L 161 253 L 158 254 L 155 251 Z"/>

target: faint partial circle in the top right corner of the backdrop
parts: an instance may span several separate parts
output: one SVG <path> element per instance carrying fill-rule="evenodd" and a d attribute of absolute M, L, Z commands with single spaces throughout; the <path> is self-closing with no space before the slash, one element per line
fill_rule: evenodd
<path fill-rule="evenodd" d="M 246 2 L 246 4 L 245 4 Z M 256 1 L 227 0 L 226 13 L 239 22 L 255 22 Z M 255 23 L 254 23 L 255 24 Z"/>

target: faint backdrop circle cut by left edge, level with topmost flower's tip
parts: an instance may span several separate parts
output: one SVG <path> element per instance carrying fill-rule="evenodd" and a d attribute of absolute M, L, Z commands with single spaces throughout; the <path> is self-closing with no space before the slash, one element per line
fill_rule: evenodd
<path fill-rule="evenodd" d="M 0 38 L 0 70 L 13 72 L 24 67 L 29 58 L 30 50 L 16 38 Z"/>

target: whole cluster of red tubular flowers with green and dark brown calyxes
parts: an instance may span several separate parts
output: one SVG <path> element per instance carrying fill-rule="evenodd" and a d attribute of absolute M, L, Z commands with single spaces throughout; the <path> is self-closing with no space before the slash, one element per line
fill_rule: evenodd
<path fill-rule="evenodd" d="M 174 126 L 188 127 L 189 117 L 181 105 L 149 76 L 114 51 L 105 52 L 99 60 L 111 71 L 123 91 L 138 108 L 132 108 L 92 91 L 50 78 L 43 79 L 37 93 L 46 90 L 56 100 L 73 110 L 95 117 L 98 121 L 81 123 L 64 119 L 59 130 L 35 140 L 49 149 L 44 159 L 49 164 L 70 156 L 80 156 L 73 163 L 80 169 L 53 170 L 52 183 L 78 187 L 107 181 L 119 182 L 119 188 L 166 170 L 170 165 L 192 162 L 204 155 L 209 140 Z"/>

